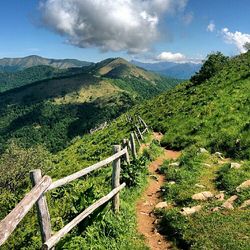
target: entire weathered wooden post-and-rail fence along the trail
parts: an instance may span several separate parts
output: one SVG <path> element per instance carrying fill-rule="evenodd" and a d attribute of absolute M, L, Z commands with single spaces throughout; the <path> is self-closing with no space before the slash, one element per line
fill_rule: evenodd
<path fill-rule="evenodd" d="M 132 118 L 126 117 L 128 122 L 132 122 Z M 51 177 L 43 176 L 40 169 L 30 172 L 32 190 L 18 203 L 18 205 L 0 222 L 0 246 L 3 245 L 9 236 L 13 233 L 18 224 L 22 221 L 25 215 L 30 211 L 33 205 L 37 207 L 37 217 L 41 230 L 41 238 L 43 242 L 42 249 L 52 249 L 62 237 L 77 226 L 83 219 L 88 217 L 97 208 L 112 200 L 112 208 L 115 213 L 119 212 L 119 192 L 126 186 L 125 183 L 120 184 L 121 160 L 130 164 L 129 150 L 134 159 L 137 158 L 137 150 L 135 137 L 138 144 L 141 145 L 140 139 L 144 140 L 143 134 L 149 131 L 147 124 L 141 117 L 137 117 L 138 124 L 135 124 L 135 131 L 130 134 L 130 139 L 124 139 L 122 147 L 120 145 L 113 146 L 113 155 L 105 160 L 102 160 L 90 167 L 84 168 L 72 175 L 66 176 L 60 180 L 52 181 Z M 112 163 L 112 191 L 102 197 L 90 207 L 85 209 L 71 222 L 64 226 L 61 230 L 52 235 L 50 213 L 46 200 L 46 192 L 66 185 L 76 179 L 79 179 L 92 171 L 100 169 Z"/>

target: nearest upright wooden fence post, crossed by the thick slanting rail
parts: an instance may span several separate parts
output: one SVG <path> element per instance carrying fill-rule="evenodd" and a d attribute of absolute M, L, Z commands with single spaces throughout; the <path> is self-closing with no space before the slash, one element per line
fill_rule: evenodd
<path fill-rule="evenodd" d="M 30 172 L 30 179 L 32 181 L 33 186 L 39 183 L 39 181 L 42 179 L 41 170 L 32 170 Z M 44 243 L 51 237 L 50 214 L 45 194 L 41 195 L 40 199 L 37 200 L 36 207 L 38 222 L 41 230 L 42 242 Z"/>

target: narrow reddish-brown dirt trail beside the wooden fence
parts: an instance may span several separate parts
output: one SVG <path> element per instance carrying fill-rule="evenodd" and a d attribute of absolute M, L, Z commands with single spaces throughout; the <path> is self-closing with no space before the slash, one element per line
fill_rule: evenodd
<path fill-rule="evenodd" d="M 160 133 L 154 133 L 156 140 L 161 140 L 162 136 Z M 146 145 L 142 145 L 142 147 L 145 148 Z M 176 159 L 179 156 L 180 152 L 164 149 L 164 154 L 150 164 L 149 172 L 155 178 L 150 178 L 148 187 L 136 206 L 138 231 L 145 236 L 147 245 L 152 250 L 166 250 L 171 248 L 171 244 L 156 230 L 156 217 L 153 211 L 155 205 L 162 201 L 160 188 L 165 180 L 164 175 L 159 174 L 157 169 L 163 164 L 164 160 Z"/>

